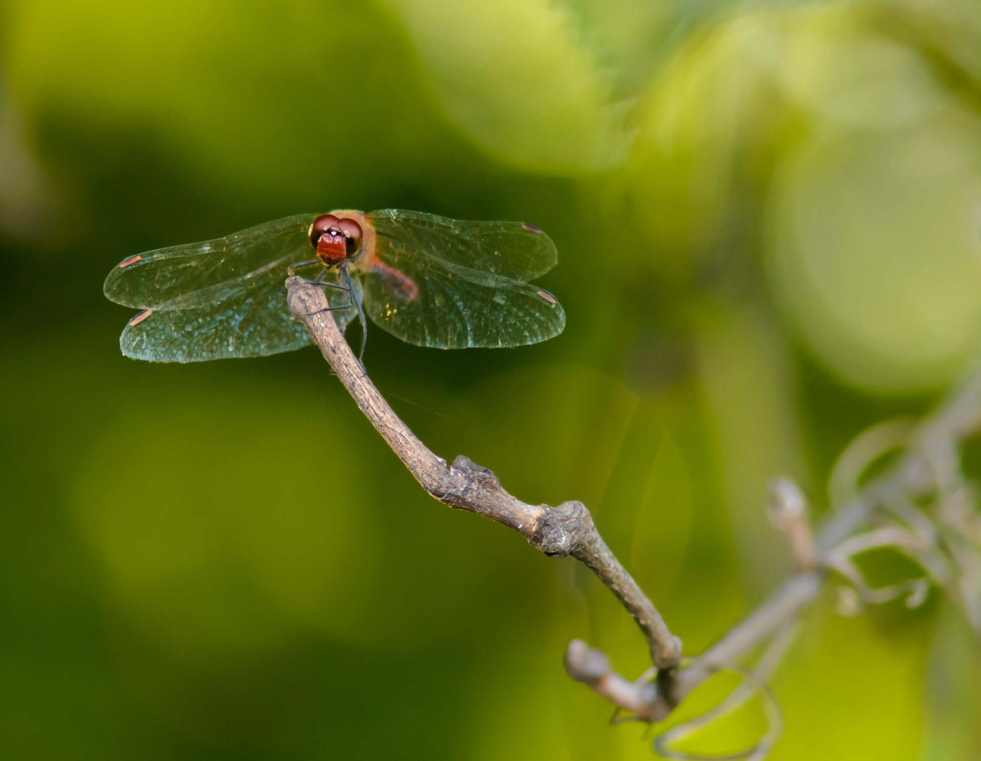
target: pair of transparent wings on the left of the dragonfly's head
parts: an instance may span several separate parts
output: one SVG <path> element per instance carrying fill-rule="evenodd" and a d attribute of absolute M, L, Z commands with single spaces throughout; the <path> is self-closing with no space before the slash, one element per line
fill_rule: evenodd
<path fill-rule="evenodd" d="M 289 217 L 121 262 L 106 279 L 106 296 L 143 310 L 120 336 L 123 353 L 151 362 L 198 362 L 311 343 L 280 292 L 289 265 L 307 256 L 311 220 Z M 346 298 L 332 289 L 332 303 Z M 353 311 L 334 313 L 341 329 Z"/>

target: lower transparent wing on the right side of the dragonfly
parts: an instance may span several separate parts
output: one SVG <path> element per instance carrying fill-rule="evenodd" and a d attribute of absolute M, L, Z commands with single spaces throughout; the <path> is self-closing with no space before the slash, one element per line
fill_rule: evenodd
<path fill-rule="evenodd" d="M 523 346 L 565 327 L 565 313 L 548 291 L 418 249 L 387 245 L 363 274 L 364 306 L 372 321 L 408 343 L 441 349 Z"/>

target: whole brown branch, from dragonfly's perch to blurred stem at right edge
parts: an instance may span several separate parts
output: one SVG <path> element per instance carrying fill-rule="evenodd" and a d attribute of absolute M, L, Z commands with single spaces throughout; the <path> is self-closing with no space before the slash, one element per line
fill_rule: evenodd
<path fill-rule="evenodd" d="M 286 287 L 292 314 L 310 331 L 358 407 L 423 488 L 450 507 L 484 515 L 521 533 L 546 555 L 575 557 L 609 587 L 645 634 L 657 670 L 656 681 L 652 683 L 645 677 L 630 681 L 620 676 L 610 668 L 604 653 L 581 640 L 570 643 L 566 670 L 573 679 L 590 685 L 619 708 L 648 722 L 666 718 L 712 674 L 733 666 L 775 633 L 793 631 L 793 622 L 817 597 L 828 572 L 829 558 L 837 548 L 867 524 L 877 508 L 936 488 L 943 476 L 937 470 L 936 453 L 947 451 L 953 442 L 975 431 L 981 423 L 978 373 L 914 431 L 904 456 L 852 496 L 813 542 L 803 523 L 806 511 L 802 503 L 792 504 L 799 495 L 784 488 L 781 519 L 789 530 L 799 573 L 681 669 L 681 640 L 671 634 L 641 587 L 607 547 L 582 502 L 568 501 L 555 507 L 529 505 L 505 491 L 490 470 L 466 457 L 459 456 L 447 465 L 398 419 L 365 374 L 337 329 L 332 313 L 322 311 L 329 306 L 324 292 L 299 278 L 286 280 Z M 788 637 L 778 636 L 781 652 L 786 649 L 784 640 Z M 773 664 L 767 665 L 767 669 L 772 667 Z"/>

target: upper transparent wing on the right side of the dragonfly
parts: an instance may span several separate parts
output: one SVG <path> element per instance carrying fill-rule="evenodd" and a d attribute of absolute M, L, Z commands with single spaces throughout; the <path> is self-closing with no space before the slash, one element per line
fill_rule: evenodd
<path fill-rule="evenodd" d="M 405 250 L 429 252 L 447 264 L 502 278 L 533 280 L 558 263 L 551 238 L 527 223 L 461 222 L 398 209 L 367 216 L 380 238 Z"/>

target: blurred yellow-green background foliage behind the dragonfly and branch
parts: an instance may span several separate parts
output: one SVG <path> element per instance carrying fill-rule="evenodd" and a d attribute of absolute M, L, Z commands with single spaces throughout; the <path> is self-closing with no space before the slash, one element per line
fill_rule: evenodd
<path fill-rule="evenodd" d="M 981 353 L 975 0 L 6 0 L 0 67 L 3 758 L 650 757 L 562 668 L 649 665 L 604 588 L 427 497 L 313 349 L 121 357 L 132 253 L 337 207 L 547 230 L 561 336 L 375 329 L 367 367 L 440 455 L 585 501 L 690 653 L 791 571 L 767 480 L 825 509 Z M 938 595 L 829 595 L 772 758 L 979 758 L 979 685 Z"/>

